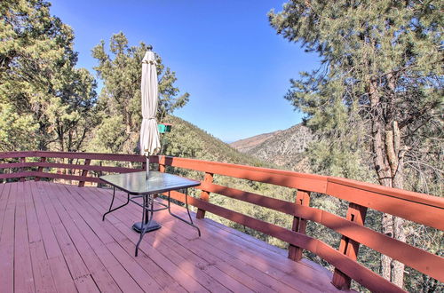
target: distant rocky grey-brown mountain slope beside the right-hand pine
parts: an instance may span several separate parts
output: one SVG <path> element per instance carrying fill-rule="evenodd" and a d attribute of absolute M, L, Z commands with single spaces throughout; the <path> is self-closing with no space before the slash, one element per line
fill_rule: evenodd
<path fill-rule="evenodd" d="M 285 131 L 274 131 L 234 141 L 230 146 L 261 161 L 290 170 L 307 171 L 304 152 L 313 139 L 310 129 L 297 124 Z"/>

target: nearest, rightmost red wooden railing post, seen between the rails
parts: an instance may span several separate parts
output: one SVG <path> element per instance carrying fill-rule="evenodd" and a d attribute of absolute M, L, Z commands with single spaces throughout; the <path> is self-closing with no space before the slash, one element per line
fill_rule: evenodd
<path fill-rule="evenodd" d="M 361 226 L 364 225 L 365 216 L 367 214 L 367 208 L 363 207 L 359 204 L 350 202 L 348 205 L 346 219 L 352 221 Z M 344 253 L 347 257 L 352 258 L 353 260 L 358 259 L 358 251 L 360 248 L 360 243 L 355 242 L 345 236 L 342 236 L 341 243 L 339 244 L 339 251 Z M 337 289 L 350 289 L 352 279 L 347 276 L 345 273 L 342 273 L 338 269 L 335 268 L 335 273 L 333 273 L 332 283 Z"/>

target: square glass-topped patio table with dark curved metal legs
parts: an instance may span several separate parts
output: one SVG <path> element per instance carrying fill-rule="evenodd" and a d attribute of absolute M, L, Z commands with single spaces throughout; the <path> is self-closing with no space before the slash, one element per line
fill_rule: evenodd
<path fill-rule="evenodd" d="M 179 220 L 185 222 L 190 226 L 194 226 L 194 228 L 197 229 L 199 237 L 201 236 L 201 230 L 199 229 L 198 226 L 194 225 L 193 219 L 191 218 L 190 210 L 188 209 L 188 188 L 200 186 L 201 182 L 189 178 L 183 178 L 177 175 L 172 175 L 169 173 L 163 173 L 152 170 L 150 170 L 148 173 L 147 171 L 141 171 L 133 173 L 105 175 L 99 178 L 103 182 L 109 184 L 110 186 L 113 186 L 113 199 L 111 200 L 109 210 L 103 215 L 102 220 L 105 220 L 105 216 L 108 213 L 123 208 L 129 202 L 134 202 L 140 207 L 142 207 L 142 221 L 134 223 L 134 225 L 132 226 L 132 228 L 135 231 L 140 233 L 139 242 L 136 245 L 136 252 L 135 252 L 136 257 L 138 256 L 139 245 L 140 242 L 142 241 L 143 236 L 147 232 L 161 228 L 161 225 L 153 219 L 155 211 L 168 210 L 171 216 L 178 218 Z M 127 195 L 127 201 L 123 203 L 123 205 L 113 209 L 113 203 L 115 199 L 115 188 L 126 192 L 128 195 Z M 170 192 L 173 190 L 180 190 L 180 189 L 185 190 L 185 205 L 186 205 L 186 212 L 188 213 L 188 217 L 190 219 L 189 221 L 187 221 L 184 218 L 178 217 L 178 215 L 173 214 L 170 210 Z M 168 194 L 167 195 L 168 201 L 166 204 L 155 200 L 156 194 L 165 194 L 165 193 Z M 142 198 L 143 203 L 139 203 L 135 200 L 136 198 L 140 197 Z M 154 208 L 155 202 L 161 205 L 162 208 L 155 209 Z"/>

